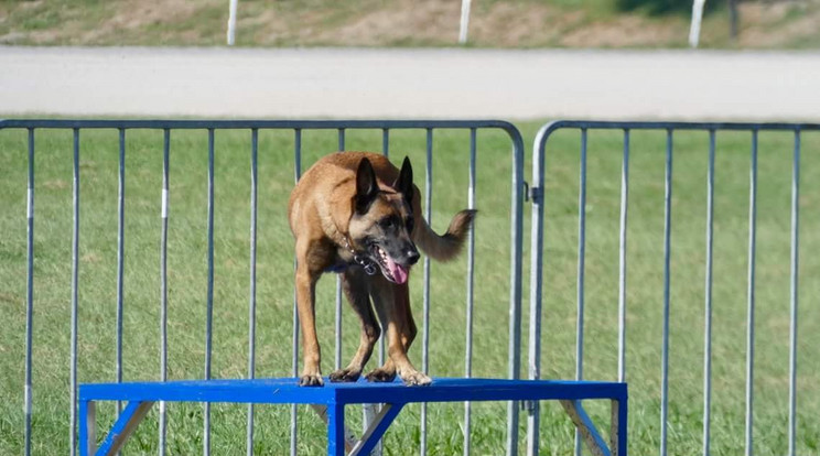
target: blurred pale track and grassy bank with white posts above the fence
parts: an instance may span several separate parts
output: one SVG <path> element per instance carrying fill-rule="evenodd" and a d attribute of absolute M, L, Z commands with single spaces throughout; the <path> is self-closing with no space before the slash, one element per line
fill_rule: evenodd
<path fill-rule="evenodd" d="M 819 0 L 2 0 L 0 112 L 809 121 L 819 23 Z"/>

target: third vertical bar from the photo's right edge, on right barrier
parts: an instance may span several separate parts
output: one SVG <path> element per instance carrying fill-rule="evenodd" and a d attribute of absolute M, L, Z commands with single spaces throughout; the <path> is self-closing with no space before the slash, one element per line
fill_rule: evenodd
<path fill-rule="evenodd" d="M 709 130 L 709 171 L 706 176 L 706 272 L 703 316 L 703 456 L 710 454 L 712 423 L 712 252 L 714 243 L 714 130 Z"/>

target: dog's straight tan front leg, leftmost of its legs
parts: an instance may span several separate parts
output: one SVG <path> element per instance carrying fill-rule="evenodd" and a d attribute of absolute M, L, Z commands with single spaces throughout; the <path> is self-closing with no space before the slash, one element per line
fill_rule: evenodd
<path fill-rule="evenodd" d="M 312 274 L 306 261 L 296 264 L 296 308 L 302 327 L 302 354 L 304 367 L 299 378 L 300 387 L 321 387 L 323 384 L 320 362 L 322 359 L 316 337 L 315 297 L 319 274 Z"/>

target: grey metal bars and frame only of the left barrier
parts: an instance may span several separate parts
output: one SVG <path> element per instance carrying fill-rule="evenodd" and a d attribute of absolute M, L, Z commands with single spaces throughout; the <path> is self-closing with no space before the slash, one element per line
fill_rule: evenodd
<path fill-rule="evenodd" d="M 511 150 L 511 194 L 510 194 L 510 263 L 509 263 L 509 322 L 508 322 L 508 371 L 509 378 L 519 377 L 519 350 L 520 350 L 520 290 L 521 290 L 521 226 L 522 226 L 522 172 L 524 172 L 524 146 L 521 135 L 518 130 L 510 123 L 503 121 L 433 121 L 433 120 L 413 120 L 413 121 L 263 121 L 263 120 L 230 120 L 230 121 L 199 121 L 199 120 L 0 120 L 0 133 L 4 130 L 10 129 L 24 129 L 28 131 L 28 192 L 26 192 L 26 218 L 28 218 L 28 237 L 26 237 L 26 311 L 25 311 L 25 381 L 24 381 L 24 454 L 32 454 L 31 441 L 32 441 L 32 410 L 34 408 L 33 391 L 36 390 L 36 381 L 32 374 L 33 359 L 33 338 L 32 333 L 34 325 L 36 325 L 36 318 L 34 317 L 36 312 L 35 295 L 34 295 L 34 276 L 35 276 L 35 240 L 34 240 L 34 220 L 35 220 L 35 172 L 34 172 L 34 158 L 35 158 L 35 138 L 36 133 L 42 129 L 58 129 L 71 132 L 73 134 L 73 229 L 72 229 L 72 267 L 71 267 L 71 374 L 69 374 L 69 394 L 71 394 L 71 452 L 72 455 L 76 450 L 76 391 L 77 391 L 77 357 L 78 357 L 78 312 L 82 308 L 82 303 L 78 296 L 78 289 L 82 286 L 79 283 L 79 239 L 80 239 L 80 225 L 79 225 L 79 211 L 80 211 L 80 133 L 86 130 L 115 130 L 119 132 L 119 173 L 118 173 L 118 195 L 117 195 L 117 211 L 118 211 L 118 232 L 117 232 L 117 316 L 116 316 L 116 381 L 122 381 L 122 362 L 123 354 L 122 346 L 122 326 L 123 318 L 126 317 L 125 306 L 125 292 L 123 292 L 123 274 L 125 274 L 125 214 L 126 214 L 126 156 L 127 156 L 127 140 L 126 135 L 131 130 L 148 129 L 158 130 L 163 133 L 163 153 L 162 153 L 162 192 L 161 192 L 161 232 L 158 232 L 160 238 L 160 268 L 158 274 L 161 276 L 161 290 L 160 290 L 160 346 L 161 346 L 161 361 L 159 369 L 160 380 L 169 379 L 168 370 L 168 352 L 169 352 L 169 328 L 168 328 L 168 293 L 169 293 L 169 269 L 168 269 L 168 235 L 169 235 L 169 162 L 171 154 L 171 135 L 172 132 L 177 130 L 205 130 L 207 132 L 207 152 L 208 152 L 208 164 L 207 164 L 207 283 L 206 283 L 206 329 L 205 329 L 205 372 L 204 378 L 212 378 L 212 351 L 213 351 L 213 332 L 214 332 L 214 162 L 215 162 L 215 131 L 219 130 L 247 130 L 250 134 L 250 284 L 249 284 L 249 303 L 248 303 L 248 365 L 247 374 L 249 378 L 253 378 L 256 372 L 256 306 L 257 306 L 257 211 L 258 211 L 258 153 L 259 153 L 259 132 L 266 130 L 285 130 L 293 132 L 294 143 L 294 178 L 298 180 L 302 172 L 302 138 L 303 133 L 316 130 L 336 130 L 337 131 L 337 145 L 338 150 L 344 151 L 346 132 L 350 130 L 371 130 L 375 132 L 381 132 L 381 151 L 385 154 L 389 153 L 390 146 L 390 133 L 395 130 L 421 130 L 427 134 L 427 162 L 425 162 L 425 181 L 424 181 L 424 210 L 427 218 L 431 218 L 431 203 L 433 194 L 433 181 L 432 181 L 432 158 L 433 158 L 433 133 L 436 130 L 443 129 L 455 129 L 463 130 L 470 133 L 468 154 L 468 172 L 470 172 L 470 184 L 467 188 L 468 193 L 468 205 L 473 207 L 475 204 L 475 192 L 476 192 L 476 155 L 478 152 L 476 135 L 478 131 L 484 130 L 497 130 L 506 133 Z M 378 149 L 371 148 L 373 149 Z M 231 151 L 233 153 L 234 151 Z M 330 151 L 326 151 L 330 152 Z M 485 151 L 482 151 L 485 152 Z M 499 158 L 497 155 L 490 155 L 497 151 L 486 150 L 487 161 L 489 163 L 497 162 Z M 242 152 L 245 153 L 245 152 Z M 418 165 L 417 165 L 418 166 Z M 420 185 L 421 186 L 421 185 Z M 464 374 L 471 377 L 471 363 L 472 363 L 472 349 L 473 349 L 473 264 L 474 264 L 474 240 L 471 236 L 468 243 L 467 253 L 467 298 L 466 298 L 466 354 L 465 354 L 465 370 Z M 290 273 L 287 274 L 290 278 Z M 422 318 L 422 369 L 428 371 L 429 368 L 429 314 L 430 314 L 430 264 L 429 259 L 425 259 L 423 267 L 423 318 Z M 205 284 L 203 284 L 205 285 Z M 335 347 L 335 366 L 341 366 L 342 355 L 342 319 L 341 319 L 341 307 L 342 297 L 341 289 L 336 287 L 336 347 Z M 299 344 L 298 344 L 298 319 L 296 319 L 295 302 L 293 307 L 293 348 L 292 348 L 292 369 L 293 374 L 298 374 L 299 363 Z M 384 343 L 379 350 L 379 361 L 384 359 Z M 80 354 L 82 355 L 82 354 Z M 98 379 L 102 380 L 102 379 Z M 159 448 L 160 454 L 165 453 L 165 428 L 166 417 L 164 404 L 160 406 L 159 416 Z M 507 450 L 508 453 L 515 453 L 518 441 L 518 412 L 515 403 L 510 403 L 507 408 Z M 247 412 L 247 453 L 250 455 L 253 452 L 253 406 L 250 405 Z M 367 411 L 366 411 L 367 414 Z M 203 447 L 204 453 L 209 454 L 211 447 L 211 423 L 209 423 L 211 410 L 206 404 L 204 409 L 204 428 L 203 428 Z M 292 409 L 291 420 L 291 454 L 295 454 L 296 450 L 296 409 L 295 405 Z M 465 428 L 464 428 L 464 452 L 470 452 L 470 419 L 471 409 L 470 404 L 465 404 Z M 427 416 L 425 409 L 421 411 L 421 453 L 425 453 L 425 433 L 427 433 Z"/>

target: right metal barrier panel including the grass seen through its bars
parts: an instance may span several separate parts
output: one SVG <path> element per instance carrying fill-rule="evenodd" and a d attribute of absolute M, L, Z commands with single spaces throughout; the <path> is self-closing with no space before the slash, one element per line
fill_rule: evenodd
<path fill-rule="evenodd" d="M 817 453 L 819 129 L 544 126 L 529 377 L 627 381 L 635 454 Z M 529 454 L 572 438 L 543 413 Z"/>

